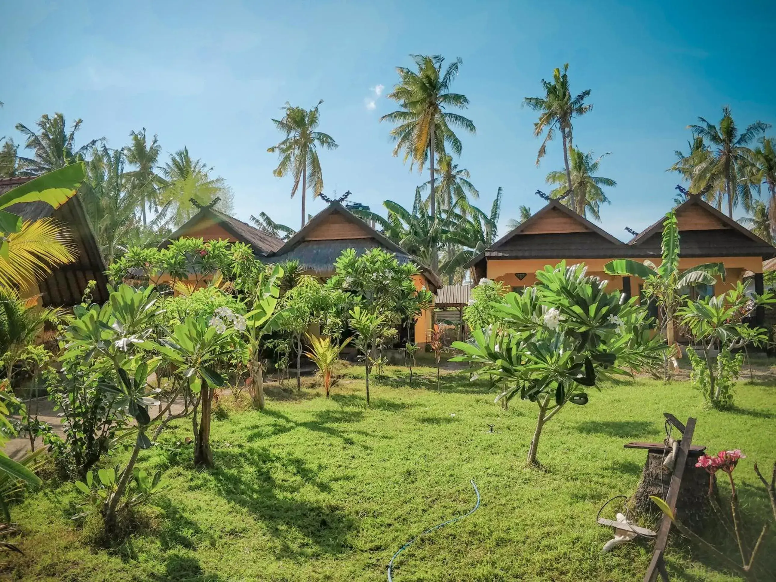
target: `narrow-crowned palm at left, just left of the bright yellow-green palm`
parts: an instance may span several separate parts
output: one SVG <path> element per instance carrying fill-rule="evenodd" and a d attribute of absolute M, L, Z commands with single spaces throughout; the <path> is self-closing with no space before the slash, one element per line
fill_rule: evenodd
<path fill-rule="evenodd" d="M 137 194 L 137 203 L 140 206 L 140 216 L 143 226 L 147 226 L 146 209 L 159 210 L 161 189 L 167 185 L 165 179 L 157 173 L 161 145 L 156 134 L 149 143 L 145 127 L 140 131 L 130 133 L 132 142 L 124 147 L 126 163 L 135 169 L 126 172 L 129 180 L 129 188 Z"/>

